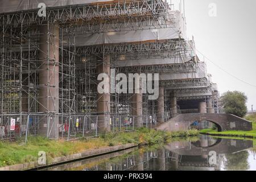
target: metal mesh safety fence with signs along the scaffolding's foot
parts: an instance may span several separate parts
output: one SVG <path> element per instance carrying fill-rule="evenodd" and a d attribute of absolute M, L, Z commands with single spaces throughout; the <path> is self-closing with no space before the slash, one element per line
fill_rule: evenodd
<path fill-rule="evenodd" d="M 1 114 L 0 139 L 27 142 L 28 137 L 36 136 L 64 140 L 98 137 L 108 133 L 134 131 L 138 119 L 142 127 L 152 129 L 156 126 L 156 119 L 151 116 L 109 115 L 105 117 L 105 125 L 109 129 L 103 129 L 101 117 L 90 114 Z"/>

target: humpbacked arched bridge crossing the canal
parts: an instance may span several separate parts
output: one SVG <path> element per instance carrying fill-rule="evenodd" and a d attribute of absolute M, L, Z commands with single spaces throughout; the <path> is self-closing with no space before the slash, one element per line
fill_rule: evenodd
<path fill-rule="evenodd" d="M 195 121 L 210 121 L 216 124 L 218 131 L 243 130 L 250 131 L 253 129 L 252 123 L 246 119 L 237 117 L 232 114 L 179 114 L 170 119 L 170 121 L 160 125 L 157 130 L 180 131 L 188 130 L 190 125 Z"/>

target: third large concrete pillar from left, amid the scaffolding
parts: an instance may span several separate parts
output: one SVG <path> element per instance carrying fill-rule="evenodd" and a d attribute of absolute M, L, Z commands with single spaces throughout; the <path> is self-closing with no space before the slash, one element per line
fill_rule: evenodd
<path fill-rule="evenodd" d="M 142 127 L 142 94 L 141 93 L 134 93 L 131 97 L 131 110 L 133 113 L 134 118 L 134 126 L 135 127 Z"/>

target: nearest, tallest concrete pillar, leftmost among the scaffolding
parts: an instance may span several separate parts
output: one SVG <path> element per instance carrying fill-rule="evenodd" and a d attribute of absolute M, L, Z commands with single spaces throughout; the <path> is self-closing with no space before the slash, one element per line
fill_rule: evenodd
<path fill-rule="evenodd" d="M 42 25 L 39 40 L 39 112 L 59 113 L 59 24 Z M 59 118 L 40 118 L 39 134 L 59 137 Z M 49 122 L 49 125 L 47 123 Z M 49 126 L 49 127 L 48 127 Z"/>

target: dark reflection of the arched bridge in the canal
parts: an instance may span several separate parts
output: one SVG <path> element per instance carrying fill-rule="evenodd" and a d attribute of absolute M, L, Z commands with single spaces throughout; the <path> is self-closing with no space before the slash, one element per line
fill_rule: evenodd
<path fill-rule="evenodd" d="M 205 137 L 205 136 L 203 136 Z M 209 147 L 205 142 L 209 142 L 207 138 L 201 138 L 198 142 L 172 142 L 164 148 L 179 155 L 189 156 L 207 156 L 210 151 L 215 151 L 217 154 L 233 154 L 238 151 L 253 147 L 252 140 L 232 140 L 232 139 L 216 139 Z M 208 143 L 209 144 L 209 143 Z M 206 147 L 204 147 L 206 146 Z"/>

